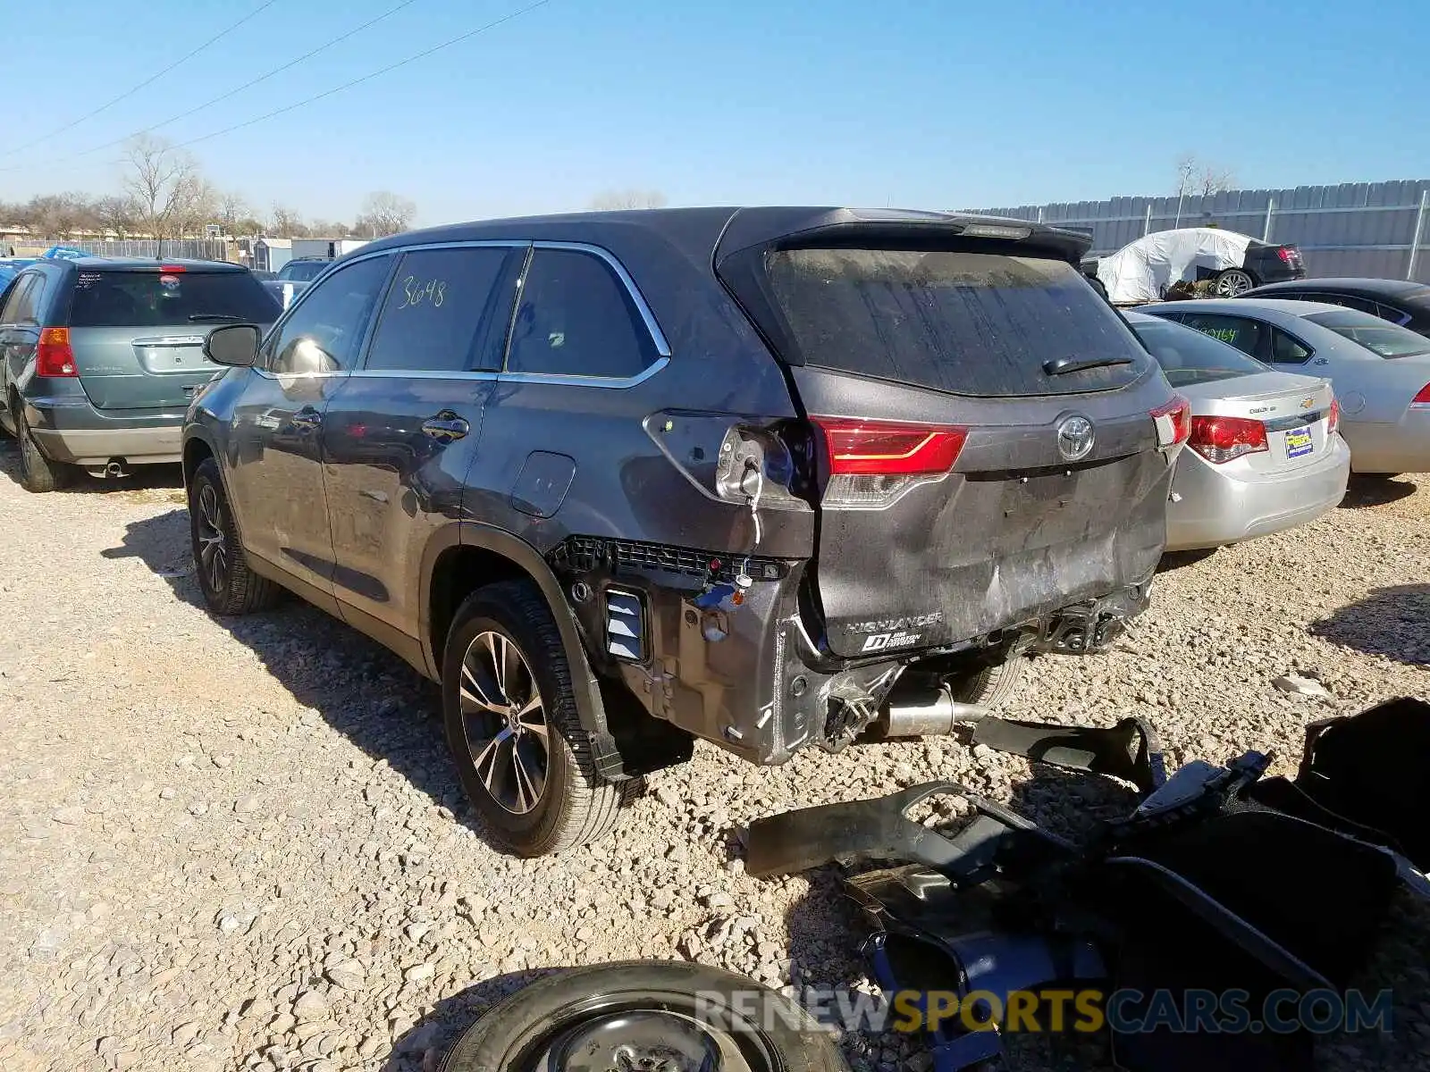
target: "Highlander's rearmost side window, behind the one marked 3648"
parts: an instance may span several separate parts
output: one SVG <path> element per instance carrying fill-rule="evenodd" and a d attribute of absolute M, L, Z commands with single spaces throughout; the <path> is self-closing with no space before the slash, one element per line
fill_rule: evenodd
<path fill-rule="evenodd" d="M 628 379 L 656 357 L 629 290 L 603 259 L 579 250 L 532 253 L 508 372 Z"/>

